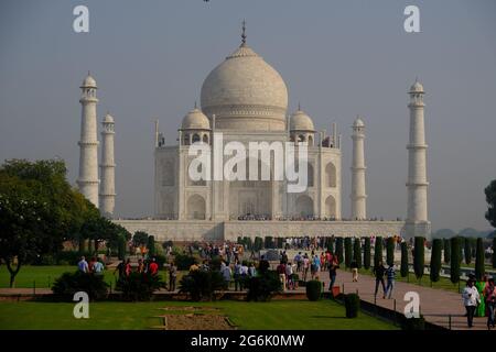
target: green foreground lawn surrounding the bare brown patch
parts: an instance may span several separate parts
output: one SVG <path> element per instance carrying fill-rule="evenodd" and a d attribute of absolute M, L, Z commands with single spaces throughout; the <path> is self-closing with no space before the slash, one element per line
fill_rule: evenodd
<path fill-rule="evenodd" d="M 73 304 L 40 301 L 0 301 L 0 329 L 148 329 L 161 324 L 158 309 L 172 306 L 220 308 L 222 314 L 239 329 L 302 330 L 392 330 L 395 326 L 359 314 L 346 319 L 343 306 L 331 300 L 274 300 L 270 302 L 153 301 L 95 302 L 89 306 L 89 319 L 75 319 Z M 205 314 L 212 314 L 204 311 Z M 172 312 L 168 312 L 172 314 Z M 183 312 L 177 312 L 183 314 Z"/>

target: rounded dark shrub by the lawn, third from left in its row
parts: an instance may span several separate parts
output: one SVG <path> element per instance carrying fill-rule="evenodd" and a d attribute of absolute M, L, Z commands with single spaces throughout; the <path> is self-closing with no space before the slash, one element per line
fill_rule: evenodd
<path fill-rule="evenodd" d="M 218 271 L 194 271 L 180 280 L 180 293 L 188 294 L 194 301 L 212 300 L 216 290 L 224 289 L 224 278 Z"/>

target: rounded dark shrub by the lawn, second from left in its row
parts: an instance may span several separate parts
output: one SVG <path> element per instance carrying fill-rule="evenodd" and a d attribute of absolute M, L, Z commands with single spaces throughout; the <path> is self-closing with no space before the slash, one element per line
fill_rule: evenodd
<path fill-rule="evenodd" d="M 151 275 L 150 273 L 133 272 L 129 276 L 119 278 L 116 290 L 122 293 L 126 300 L 150 300 L 153 292 L 165 287 L 160 275 Z"/>

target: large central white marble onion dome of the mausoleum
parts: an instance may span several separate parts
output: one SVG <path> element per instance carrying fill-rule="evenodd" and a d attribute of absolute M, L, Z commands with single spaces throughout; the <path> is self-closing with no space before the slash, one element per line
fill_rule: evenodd
<path fill-rule="evenodd" d="M 202 111 L 217 129 L 284 131 L 288 89 L 281 75 L 242 43 L 202 86 Z"/>

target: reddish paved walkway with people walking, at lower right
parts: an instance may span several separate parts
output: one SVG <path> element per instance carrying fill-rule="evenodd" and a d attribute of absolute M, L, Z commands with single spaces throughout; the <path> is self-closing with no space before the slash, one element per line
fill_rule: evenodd
<path fill-rule="evenodd" d="M 328 274 L 321 272 L 321 279 L 325 282 L 325 287 L 328 287 Z M 352 282 L 352 273 L 345 271 L 338 271 L 336 277 L 336 285 L 346 293 L 358 293 L 360 299 L 374 302 L 374 289 L 375 278 L 370 275 L 359 275 L 358 282 Z M 427 321 L 449 328 L 449 316 L 451 315 L 451 328 L 466 330 L 467 322 L 464 317 L 465 308 L 462 305 L 462 296 L 443 289 L 430 288 L 408 283 L 396 282 L 396 287 L 392 293 L 391 299 L 382 298 L 382 288 L 379 285 L 379 292 L 377 295 L 377 305 L 380 307 L 395 309 L 403 312 L 405 306 L 408 301 L 403 300 L 407 292 L 417 292 L 420 296 L 420 311 Z M 474 318 L 473 330 L 487 330 L 487 318 Z"/>

